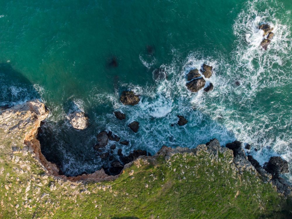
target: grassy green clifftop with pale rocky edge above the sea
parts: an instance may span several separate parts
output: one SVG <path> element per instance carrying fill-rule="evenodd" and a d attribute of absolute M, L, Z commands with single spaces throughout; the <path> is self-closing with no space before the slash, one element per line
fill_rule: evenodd
<path fill-rule="evenodd" d="M 36 138 L 48 114 L 39 100 L 0 111 L 0 218 L 291 216 L 291 187 L 216 139 L 195 149 L 163 146 L 116 176 L 101 169 L 66 177 Z"/>

